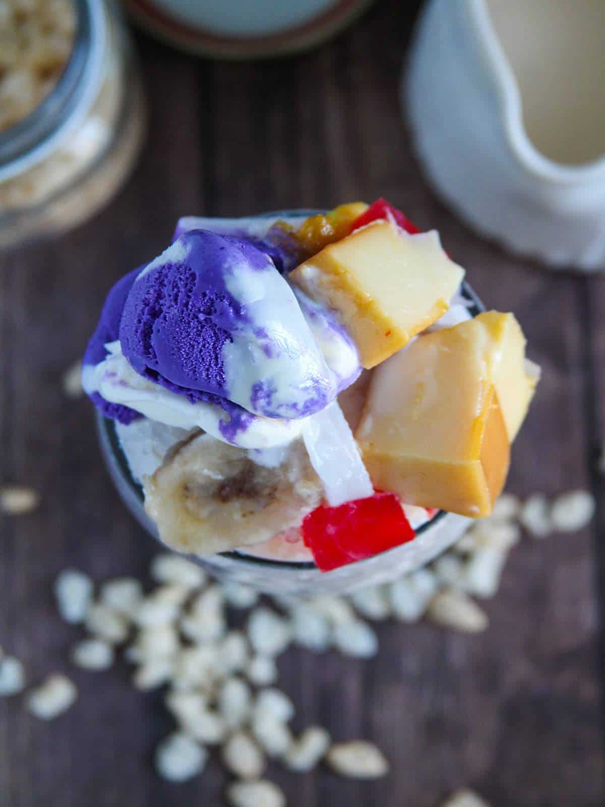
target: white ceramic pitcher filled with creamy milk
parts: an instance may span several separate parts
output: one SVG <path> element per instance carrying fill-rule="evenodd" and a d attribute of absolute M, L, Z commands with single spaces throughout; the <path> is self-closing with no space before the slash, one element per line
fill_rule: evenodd
<path fill-rule="evenodd" d="M 429 0 L 402 93 L 429 178 L 471 226 L 605 270 L 605 0 Z"/>

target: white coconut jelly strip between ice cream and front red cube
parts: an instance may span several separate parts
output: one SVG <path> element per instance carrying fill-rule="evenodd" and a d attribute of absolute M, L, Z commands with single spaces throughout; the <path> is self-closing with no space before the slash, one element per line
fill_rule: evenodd
<path fill-rule="evenodd" d="M 336 401 L 307 418 L 303 440 L 331 507 L 373 495 L 359 446 Z"/>

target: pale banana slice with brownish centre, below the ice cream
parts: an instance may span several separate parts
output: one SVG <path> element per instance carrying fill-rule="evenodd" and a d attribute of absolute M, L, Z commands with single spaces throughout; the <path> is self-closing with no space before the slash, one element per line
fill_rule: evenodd
<path fill-rule="evenodd" d="M 143 481 L 145 509 L 161 541 L 198 555 L 261 543 L 298 527 L 323 496 L 301 440 L 277 467 L 266 467 L 243 449 L 198 434 Z"/>

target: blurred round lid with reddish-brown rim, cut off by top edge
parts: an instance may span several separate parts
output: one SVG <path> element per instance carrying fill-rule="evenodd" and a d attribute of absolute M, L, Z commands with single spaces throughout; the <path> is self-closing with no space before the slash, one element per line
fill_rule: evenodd
<path fill-rule="evenodd" d="M 123 0 L 156 36 L 198 56 L 258 59 L 313 48 L 373 0 Z"/>

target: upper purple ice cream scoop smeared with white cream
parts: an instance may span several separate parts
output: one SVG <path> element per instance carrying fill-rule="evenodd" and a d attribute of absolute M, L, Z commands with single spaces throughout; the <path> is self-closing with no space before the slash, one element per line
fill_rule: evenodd
<path fill-rule="evenodd" d="M 148 264 L 127 292 L 119 341 L 137 373 L 258 415 L 311 415 L 340 391 L 286 280 L 233 236 L 192 230 Z"/>

